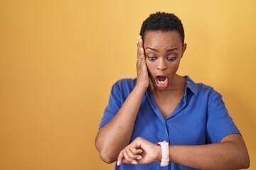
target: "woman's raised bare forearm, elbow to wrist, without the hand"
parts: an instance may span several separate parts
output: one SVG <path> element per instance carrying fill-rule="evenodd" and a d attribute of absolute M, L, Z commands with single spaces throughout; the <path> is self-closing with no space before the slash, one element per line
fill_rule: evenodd
<path fill-rule="evenodd" d="M 135 86 L 117 115 L 99 130 L 95 145 L 103 161 L 116 161 L 119 152 L 129 144 L 145 91 L 146 89 Z"/>

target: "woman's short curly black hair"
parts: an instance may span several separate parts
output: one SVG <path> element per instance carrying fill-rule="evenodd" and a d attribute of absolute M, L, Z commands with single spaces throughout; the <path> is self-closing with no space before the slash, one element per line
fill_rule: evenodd
<path fill-rule="evenodd" d="M 184 29 L 181 20 L 174 13 L 156 12 L 151 13 L 142 23 L 139 35 L 144 35 L 147 31 L 176 31 L 181 36 L 181 42 L 184 43 Z"/>

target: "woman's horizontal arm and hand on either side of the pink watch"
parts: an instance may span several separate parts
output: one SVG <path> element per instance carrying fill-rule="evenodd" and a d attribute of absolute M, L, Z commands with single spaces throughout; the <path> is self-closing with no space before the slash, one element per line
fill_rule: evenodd
<path fill-rule="evenodd" d="M 195 146 L 169 146 L 170 162 L 197 169 L 245 169 L 250 158 L 242 136 L 228 135 L 220 143 Z M 161 148 L 138 137 L 124 148 L 118 163 L 149 164 L 160 162 Z"/>

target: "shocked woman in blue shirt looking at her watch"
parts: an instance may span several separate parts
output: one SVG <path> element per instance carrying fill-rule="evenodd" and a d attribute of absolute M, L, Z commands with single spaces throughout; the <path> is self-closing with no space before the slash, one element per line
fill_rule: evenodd
<path fill-rule="evenodd" d="M 176 74 L 186 50 L 181 21 L 171 13 L 151 14 L 137 47 L 137 79 L 112 86 L 100 123 L 95 145 L 101 159 L 129 170 L 249 167 L 222 96 Z"/>

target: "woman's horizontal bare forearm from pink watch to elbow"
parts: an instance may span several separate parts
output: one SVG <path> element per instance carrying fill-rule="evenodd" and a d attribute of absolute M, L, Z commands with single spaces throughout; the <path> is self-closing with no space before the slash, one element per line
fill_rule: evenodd
<path fill-rule="evenodd" d="M 198 146 L 170 146 L 169 153 L 171 162 L 197 169 L 242 169 L 250 164 L 243 140 Z"/>

